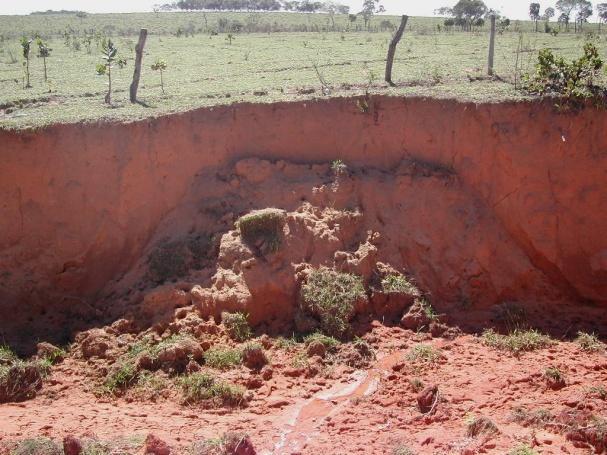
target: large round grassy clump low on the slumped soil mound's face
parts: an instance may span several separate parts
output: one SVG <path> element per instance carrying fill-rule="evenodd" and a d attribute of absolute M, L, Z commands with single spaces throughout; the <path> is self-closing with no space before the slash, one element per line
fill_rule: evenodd
<path fill-rule="evenodd" d="M 321 267 L 312 271 L 301 288 L 303 310 L 320 319 L 321 330 L 342 338 L 350 330 L 356 302 L 366 298 L 362 279 Z"/>

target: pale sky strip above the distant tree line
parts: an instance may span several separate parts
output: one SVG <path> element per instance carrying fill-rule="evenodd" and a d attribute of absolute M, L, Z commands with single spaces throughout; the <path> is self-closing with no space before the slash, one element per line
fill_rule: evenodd
<path fill-rule="evenodd" d="M 32 11 L 47 9 L 82 10 L 90 13 L 151 11 L 157 3 L 169 3 L 172 0 L 0 0 L 0 14 L 29 14 Z M 410 16 L 432 16 L 441 6 L 453 6 L 457 0 L 383 0 L 390 14 L 409 14 Z M 538 0 L 535 0 L 538 1 Z M 542 11 L 554 6 L 555 0 L 541 1 Z M 342 0 L 357 12 L 362 0 Z M 485 0 L 489 8 L 497 9 L 511 19 L 527 19 L 530 0 Z"/>

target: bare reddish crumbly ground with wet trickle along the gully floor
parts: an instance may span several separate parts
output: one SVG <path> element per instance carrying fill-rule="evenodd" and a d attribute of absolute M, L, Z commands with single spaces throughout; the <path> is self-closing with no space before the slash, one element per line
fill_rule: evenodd
<path fill-rule="evenodd" d="M 520 357 L 484 346 L 478 337 L 432 339 L 399 327 L 375 328 L 366 339 L 377 359 L 368 369 L 336 365 L 315 377 L 297 376 L 289 367 L 289 350 L 271 348 L 274 375 L 254 392 L 244 409 L 205 410 L 182 406 L 175 397 L 158 402 L 97 398 L 83 374 L 90 365 L 68 358 L 54 367 L 33 400 L 0 407 L 0 441 L 28 437 L 96 437 L 121 452 L 140 453 L 154 433 L 173 453 L 186 453 L 195 440 L 225 431 L 249 434 L 257 453 L 348 454 L 507 453 L 527 444 L 542 454 L 589 453 L 563 431 L 568 417 L 605 415 L 607 401 L 597 390 L 607 383 L 607 357 L 587 353 L 571 342 Z M 436 362 L 407 360 L 419 342 L 439 348 Z M 552 390 L 546 368 L 558 367 L 566 385 Z M 233 373 L 244 380 L 246 368 Z M 295 375 L 295 377 L 293 377 Z M 438 386 L 430 411 L 422 413 L 411 382 Z M 604 395 L 604 394 L 603 394 Z M 515 419 L 549 411 L 550 422 L 534 425 Z M 520 414 L 520 413 L 519 413 Z M 488 417 L 497 433 L 467 436 L 467 424 Z"/>

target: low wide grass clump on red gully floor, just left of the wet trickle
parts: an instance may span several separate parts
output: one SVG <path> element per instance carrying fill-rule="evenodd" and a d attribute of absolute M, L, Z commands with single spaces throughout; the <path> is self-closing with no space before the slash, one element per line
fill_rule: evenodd
<path fill-rule="evenodd" d="M 214 405 L 241 406 L 245 403 L 244 389 L 218 381 L 207 373 L 193 373 L 179 379 L 186 404 L 212 402 Z"/>

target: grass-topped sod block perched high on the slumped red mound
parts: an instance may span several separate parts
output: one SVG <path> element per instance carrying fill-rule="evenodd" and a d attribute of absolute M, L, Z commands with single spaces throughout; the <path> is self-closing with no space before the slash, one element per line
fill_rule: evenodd
<path fill-rule="evenodd" d="M 238 219 L 242 240 L 263 252 L 276 252 L 282 240 L 285 212 L 279 209 L 255 210 Z"/>

